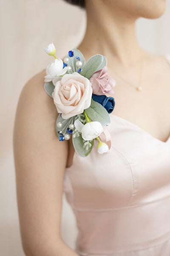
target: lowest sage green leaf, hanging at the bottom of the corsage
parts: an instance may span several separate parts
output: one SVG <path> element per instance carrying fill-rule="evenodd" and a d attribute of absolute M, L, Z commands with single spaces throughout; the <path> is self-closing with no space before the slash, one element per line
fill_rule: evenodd
<path fill-rule="evenodd" d="M 75 137 L 75 138 L 72 137 L 72 140 L 73 140 L 73 145 L 77 154 L 79 154 L 81 157 L 87 157 L 93 148 L 94 140 L 90 142 L 91 147 L 89 147 L 87 150 L 85 149 L 85 147 L 83 148 L 84 142 L 81 134 L 79 135 L 79 137 Z"/>

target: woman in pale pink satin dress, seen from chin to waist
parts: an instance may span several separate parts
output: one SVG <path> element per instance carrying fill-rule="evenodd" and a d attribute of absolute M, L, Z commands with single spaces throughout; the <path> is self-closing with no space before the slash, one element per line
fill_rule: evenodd
<path fill-rule="evenodd" d="M 92 149 L 80 157 L 71 140 L 59 142 L 45 70 L 24 86 L 14 158 L 26 255 L 170 255 L 170 63 L 139 47 L 135 33 L 138 17 L 158 18 L 165 6 L 164 0 L 85 0 L 87 29 L 77 49 L 86 61 L 105 55 L 116 80 L 109 154 Z M 76 250 L 60 235 L 63 183 L 77 218 Z"/>

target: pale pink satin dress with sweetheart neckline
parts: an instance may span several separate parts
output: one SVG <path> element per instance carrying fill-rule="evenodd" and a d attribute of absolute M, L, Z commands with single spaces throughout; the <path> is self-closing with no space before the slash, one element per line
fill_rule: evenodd
<path fill-rule="evenodd" d="M 170 256 L 170 137 L 156 139 L 110 114 L 112 146 L 74 154 L 64 193 L 78 228 L 79 256 Z"/>

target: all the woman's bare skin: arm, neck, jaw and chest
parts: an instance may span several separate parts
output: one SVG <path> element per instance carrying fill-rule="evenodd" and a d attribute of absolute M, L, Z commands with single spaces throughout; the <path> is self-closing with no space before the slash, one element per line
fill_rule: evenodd
<path fill-rule="evenodd" d="M 170 64 L 163 56 L 141 49 L 135 35 L 135 20 L 141 16 L 160 17 L 165 11 L 165 1 L 86 0 L 86 9 L 87 30 L 77 48 L 86 61 L 97 53 L 106 56 L 108 76 L 117 82 L 114 114 L 139 125 L 160 140 L 167 140 Z M 116 76 L 114 70 L 135 84 L 139 79 L 140 55 L 144 70 L 143 90 L 139 93 Z M 60 235 L 62 184 L 65 167 L 72 164 L 74 148 L 71 140 L 61 143 L 55 134 L 58 113 L 53 99 L 43 88 L 44 76 L 45 70 L 42 70 L 23 87 L 14 124 L 17 204 L 23 250 L 27 256 L 77 256 Z"/>

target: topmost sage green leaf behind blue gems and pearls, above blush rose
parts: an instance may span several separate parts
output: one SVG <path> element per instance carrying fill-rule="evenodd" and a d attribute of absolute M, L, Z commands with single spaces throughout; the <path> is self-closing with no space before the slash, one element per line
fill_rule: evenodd
<path fill-rule="evenodd" d="M 84 66 L 84 64 L 85 64 L 85 58 L 84 58 L 84 56 L 82 55 L 82 53 L 78 50 L 78 49 L 76 49 L 76 48 L 74 48 L 74 49 L 72 49 L 73 50 L 73 52 L 74 52 L 74 56 L 73 57 L 70 57 L 68 54 L 66 55 L 66 57 L 69 59 L 69 66 L 71 66 L 71 68 L 72 68 L 72 73 L 73 72 L 77 72 L 78 71 L 78 67 L 76 66 L 76 62 L 77 62 L 77 58 L 76 57 L 79 57 L 80 58 L 80 61 L 82 61 L 82 67 Z M 69 72 L 67 71 L 66 72 L 66 74 L 69 74 Z"/>

